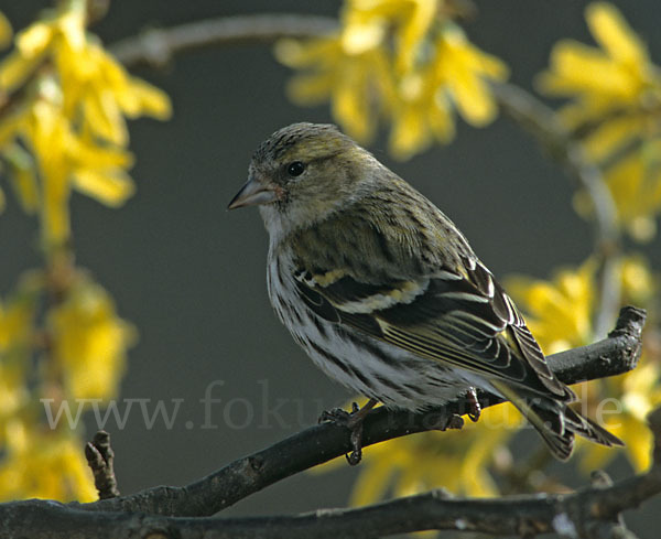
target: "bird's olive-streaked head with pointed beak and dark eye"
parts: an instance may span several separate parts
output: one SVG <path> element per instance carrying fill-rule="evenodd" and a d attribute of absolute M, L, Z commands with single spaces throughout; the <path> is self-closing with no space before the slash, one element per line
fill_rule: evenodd
<path fill-rule="evenodd" d="M 228 208 L 259 205 L 270 233 L 293 230 L 361 196 L 378 166 L 335 126 L 293 123 L 259 145 Z"/>

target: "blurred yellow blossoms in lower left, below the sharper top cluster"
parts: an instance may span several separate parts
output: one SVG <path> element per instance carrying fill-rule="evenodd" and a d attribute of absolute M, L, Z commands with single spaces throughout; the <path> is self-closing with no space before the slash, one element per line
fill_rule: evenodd
<path fill-rule="evenodd" d="M 29 272 L 0 302 L 0 499 L 94 499 L 82 432 L 45 423 L 40 399 L 59 409 L 63 401 L 76 408 L 79 399 L 115 398 L 134 341 L 108 293 L 84 272 L 68 277 L 66 294 L 39 327 L 52 278 Z"/>

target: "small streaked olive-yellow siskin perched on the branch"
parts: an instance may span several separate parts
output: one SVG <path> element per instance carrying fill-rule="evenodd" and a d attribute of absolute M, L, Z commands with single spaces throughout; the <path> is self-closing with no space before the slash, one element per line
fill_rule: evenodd
<path fill-rule="evenodd" d="M 278 317 L 326 375 L 369 398 L 344 416 L 350 463 L 377 403 L 420 412 L 464 397 L 476 419 L 476 389 L 509 400 L 559 460 L 576 434 L 622 445 L 568 406 L 575 394 L 454 223 L 336 126 L 266 139 L 228 208 L 246 206 L 269 234 Z"/>

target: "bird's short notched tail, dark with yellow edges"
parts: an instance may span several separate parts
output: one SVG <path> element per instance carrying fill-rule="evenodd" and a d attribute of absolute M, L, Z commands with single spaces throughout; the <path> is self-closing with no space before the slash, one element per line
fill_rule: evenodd
<path fill-rule="evenodd" d="M 491 380 L 491 385 L 530 421 L 553 456 L 561 461 L 566 461 L 572 454 L 575 434 L 609 448 L 624 445 L 619 438 L 570 408 L 566 400 L 520 395 L 516 388 L 500 380 Z"/>

